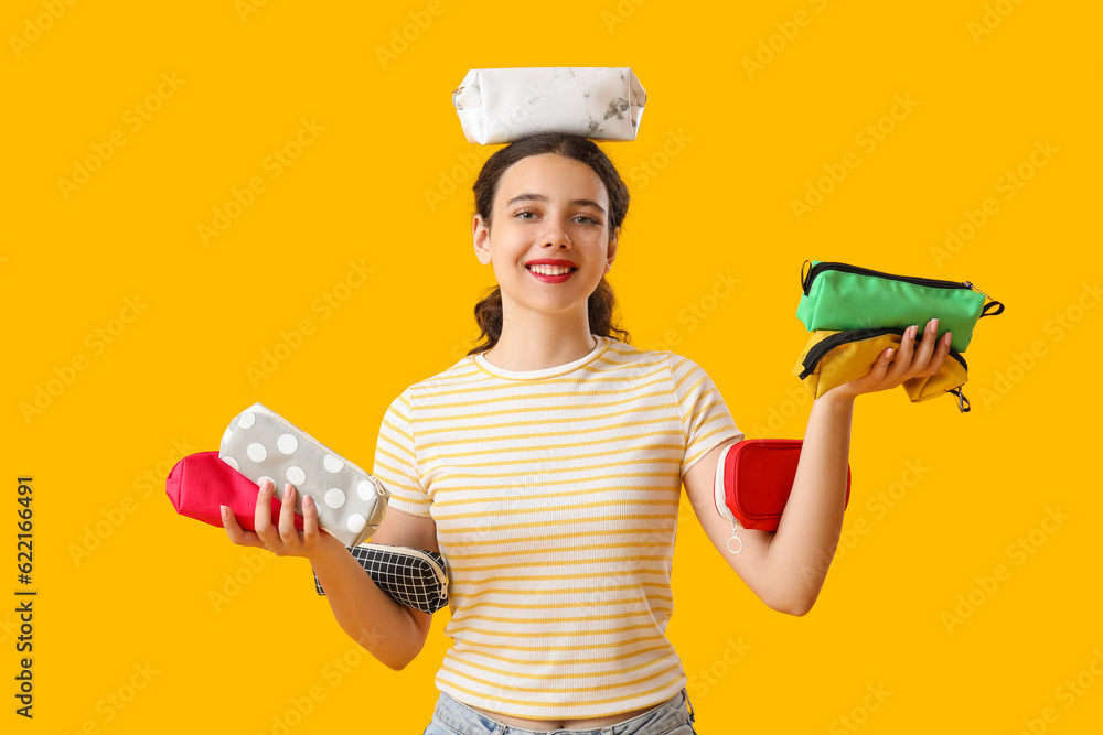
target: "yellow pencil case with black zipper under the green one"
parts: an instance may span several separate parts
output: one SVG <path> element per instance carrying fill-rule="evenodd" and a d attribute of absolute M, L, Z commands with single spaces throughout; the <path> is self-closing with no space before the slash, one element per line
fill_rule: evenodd
<path fill-rule="evenodd" d="M 868 374 L 884 350 L 900 348 L 903 333 L 900 327 L 816 329 L 801 353 L 793 375 L 801 379 L 813 399 L 820 398 L 832 388 Z M 922 335 L 915 336 L 917 349 L 921 339 Z M 967 370 L 965 358 L 951 347 L 938 372 L 909 378 L 901 387 L 913 403 L 949 392 L 957 399 L 957 410 L 965 413 L 970 404 L 962 394 L 962 386 L 968 379 Z"/>

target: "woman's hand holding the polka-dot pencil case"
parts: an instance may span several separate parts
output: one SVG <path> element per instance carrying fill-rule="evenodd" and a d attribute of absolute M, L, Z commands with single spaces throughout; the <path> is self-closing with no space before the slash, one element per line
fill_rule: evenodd
<path fill-rule="evenodd" d="M 295 528 L 295 488 L 288 483 L 279 511 L 279 526 L 271 522 L 270 479 L 260 482 L 257 493 L 256 531 L 242 528 L 228 506 L 222 507 L 222 526 L 229 540 L 242 547 L 268 549 L 277 556 L 306 556 L 312 563 L 331 554 L 345 551 L 345 545 L 330 533 L 318 528 L 318 508 L 309 495 L 302 498 L 302 531 Z"/>

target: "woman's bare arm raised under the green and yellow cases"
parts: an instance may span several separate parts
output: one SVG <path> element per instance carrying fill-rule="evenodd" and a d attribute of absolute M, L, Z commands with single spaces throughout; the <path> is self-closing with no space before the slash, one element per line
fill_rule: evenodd
<path fill-rule="evenodd" d="M 743 548 L 739 554 L 728 551 L 731 527 L 716 512 L 713 500 L 716 463 L 724 447 L 735 442 L 713 448 L 683 476 L 689 501 L 713 545 L 771 608 L 805 615 L 820 596 L 843 526 L 854 398 L 938 372 L 950 352 L 951 335 L 946 333 L 935 349 L 938 320 L 930 326 L 918 347 L 913 338 L 903 339 L 899 353 L 885 350 L 866 376 L 813 402 L 793 489 L 778 530 L 741 530 Z"/>

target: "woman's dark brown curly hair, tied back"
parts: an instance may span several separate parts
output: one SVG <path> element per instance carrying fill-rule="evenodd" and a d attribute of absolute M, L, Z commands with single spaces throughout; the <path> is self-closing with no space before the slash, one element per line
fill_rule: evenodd
<path fill-rule="evenodd" d="M 475 194 L 475 212 L 482 216 L 489 227 L 491 214 L 494 208 L 494 196 L 497 194 L 497 183 L 506 169 L 517 161 L 529 155 L 540 155 L 542 153 L 555 153 L 564 158 L 581 161 L 590 166 L 606 185 L 609 194 L 609 237 L 617 234 L 628 215 L 629 193 L 628 186 L 621 180 L 617 167 L 613 165 L 606 152 L 588 138 L 572 136 L 563 132 L 542 132 L 527 138 L 515 140 L 505 148 L 495 151 L 486 163 L 483 164 L 475 180 L 472 191 Z M 590 317 L 590 332 L 604 337 L 613 337 L 620 342 L 628 343 L 632 337 L 628 331 L 620 327 L 619 315 L 614 317 L 617 299 L 613 289 L 601 277 L 598 287 L 587 300 L 587 307 Z M 502 336 L 502 289 L 493 287 L 486 291 L 486 295 L 475 304 L 475 322 L 482 329 L 480 339 L 485 338 L 482 344 L 475 345 L 468 350 L 468 355 L 482 353 L 497 344 Z"/>

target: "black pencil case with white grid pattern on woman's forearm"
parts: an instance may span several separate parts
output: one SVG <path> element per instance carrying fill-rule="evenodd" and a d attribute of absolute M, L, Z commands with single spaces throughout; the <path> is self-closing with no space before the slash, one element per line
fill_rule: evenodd
<path fill-rule="evenodd" d="M 445 558 L 436 551 L 385 543 L 345 548 L 399 605 L 431 614 L 448 604 L 448 570 Z M 317 574 L 314 587 L 318 594 L 325 594 Z"/>

